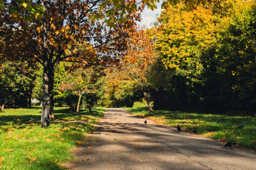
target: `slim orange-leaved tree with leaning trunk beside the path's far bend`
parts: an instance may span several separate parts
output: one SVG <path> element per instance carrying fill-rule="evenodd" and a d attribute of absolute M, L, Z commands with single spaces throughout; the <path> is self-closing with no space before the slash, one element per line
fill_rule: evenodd
<path fill-rule="evenodd" d="M 121 74 L 124 76 L 127 73 L 130 79 L 136 82 L 139 86 L 148 104 L 148 110 L 153 111 L 151 107 L 150 95 L 147 93 L 148 81 L 146 75 L 148 73 L 148 66 L 153 64 L 156 54 L 154 53 L 151 40 L 143 29 L 130 33 L 129 47 L 127 54 L 122 60 Z"/>

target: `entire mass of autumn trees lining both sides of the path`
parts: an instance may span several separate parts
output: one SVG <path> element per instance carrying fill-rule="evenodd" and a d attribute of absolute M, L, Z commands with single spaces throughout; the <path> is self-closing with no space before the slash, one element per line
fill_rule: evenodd
<path fill-rule="evenodd" d="M 146 31 L 153 0 L 0 2 L 0 106 L 38 98 L 43 127 L 54 103 L 255 109 L 253 1 L 164 1 Z"/>

